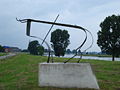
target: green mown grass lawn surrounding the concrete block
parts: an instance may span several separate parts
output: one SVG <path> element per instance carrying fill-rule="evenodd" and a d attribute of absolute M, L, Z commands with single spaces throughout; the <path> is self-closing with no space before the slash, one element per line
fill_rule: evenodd
<path fill-rule="evenodd" d="M 55 58 L 60 62 L 65 58 Z M 38 63 L 46 62 L 45 56 L 18 54 L 0 60 L 0 90 L 81 90 L 38 86 Z M 72 61 L 74 62 L 74 61 Z M 101 90 L 120 90 L 120 62 L 81 60 L 89 62 Z M 82 89 L 86 90 L 86 89 Z"/>

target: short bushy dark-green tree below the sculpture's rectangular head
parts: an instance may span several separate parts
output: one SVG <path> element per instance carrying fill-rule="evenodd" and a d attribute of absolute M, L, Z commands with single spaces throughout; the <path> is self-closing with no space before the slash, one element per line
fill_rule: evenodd
<path fill-rule="evenodd" d="M 43 55 L 44 47 L 39 44 L 37 40 L 29 42 L 28 50 L 33 55 Z"/>

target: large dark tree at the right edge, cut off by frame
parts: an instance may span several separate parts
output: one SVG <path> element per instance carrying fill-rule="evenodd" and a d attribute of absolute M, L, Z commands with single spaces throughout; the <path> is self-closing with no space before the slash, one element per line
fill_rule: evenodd
<path fill-rule="evenodd" d="M 120 16 L 112 15 L 105 18 L 100 24 L 97 44 L 102 52 L 114 57 L 120 55 Z"/>

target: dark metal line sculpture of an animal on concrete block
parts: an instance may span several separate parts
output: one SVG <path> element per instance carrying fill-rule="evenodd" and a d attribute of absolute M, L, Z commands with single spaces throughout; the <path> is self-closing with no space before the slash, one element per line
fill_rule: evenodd
<path fill-rule="evenodd" d="M 56 20 L 57 20 L 58 17 L 59 17 L 59 15 L 56 17 L 56 19 L 55 19 L 54 22 L 42 21 L 42 20 L 34 20 L 34 19 L 22 19 L 22 20 L 19 19 L 19 20 L 18 20 L 17 18 L 16 18 L 16 20 L 19 21 L 19 22 L 21 22 L 21 23 L 27 23 L 27 27 L 26 27 L 26 35 L 27 35 L 27 36 L 29 36 L 29 37 L 34 37 L 34 38 L 38 38 L 38 39 L 42 40 L 42 44 L 45 42 L 45 44 L 47 45 L 48 50 L 49 50 L 49 55 L 48 55 L 47 63 L 50 62 L 51 49 L 50 49 L 49 44 L 45 41 L 45 39 L 47 38 L 49 32 L 51 31 L 51 29 L 52 29 L 52 27 L 53 27 L 54 25 L 64 26 L 64 27 L 70 27 L 70 28 L 76 28 L 76 29 L 80 29 L 80 30 L 84 31 L 84 33 L 85 33 L 85 38 L 84 38 L 84 41 L 82 42 L 82 44 L 80 44 L 80 46 L 76 49 L 77 52 L 75 53 L 75 55 L 74 55 L 73 57 L 69 58 L 68 60 L 66 60 L 66 61 L 64 62 L 64 63 L 67 63 L 68 61 L 70 61 L 71 59 L 73 59 L 76 55 L 78 55 L 78 51 L 80 51 L 81 55 L 80 55 L 79 60 L 77 61 L 77 63 L 79 63 L 80 60 L 81 60 L 81 58 L 82 58 L 81 48 L 82 48 L 82 46 L 85 44 L 85 42 L 87 41 L 87 32 L 88 32 L 88 33 L 91 35 L 91 37 L 92 37 L 92 43 L 90 44 L 90 46 L 89 46 L 86 50 L 88 50 L 89 48 L 91 48 L 92 45 L 93 45 L 93 36 L 92 36 L 92 33 L 91 33 L 89 30 L 87 30 L 87 29 L 85 29 L 85 28 L 83 28 L 83 27 L 81 27 L 81 26 L 71 25 L 71 24 L 63 24 L 63 23 L 56 23 Z M 30 35 L 30 27 L 31 27 L 31 23 L 32 23 L 32 22 L 44 23 L 44 24 L 52 24 L 51 28 L 49 29 L 49 31 L 48 31 L 48 33 L 47 33 L 47 35 L 45 36 L 44 39 Z M 41 44 L 41 45 L 42 45 L 42 44 Z M 84 50 L 84 51 L 86 51 L 86 50 Z M 52 62 L 53 62 L 53 59 L 52 59 Z"/>

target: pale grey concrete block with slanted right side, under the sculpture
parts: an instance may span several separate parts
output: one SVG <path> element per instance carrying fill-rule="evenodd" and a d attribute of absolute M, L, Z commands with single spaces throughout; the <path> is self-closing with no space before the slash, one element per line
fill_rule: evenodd
<path fill-rule="evenodd" d="M 39 86 L 99 89 L 89 63 L 40 63 Z"/>

